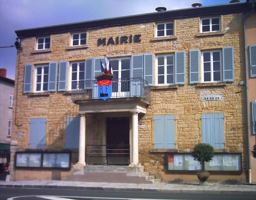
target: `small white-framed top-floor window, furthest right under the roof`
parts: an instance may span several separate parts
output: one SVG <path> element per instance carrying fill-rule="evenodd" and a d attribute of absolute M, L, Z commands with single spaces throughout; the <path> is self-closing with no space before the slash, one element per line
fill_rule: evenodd
<path fill-rule="evenodd" d="M 201 32 L 206 33 L 220 31 L 220 21 L 221 19 L 219 17 L 201 19 Z"/>

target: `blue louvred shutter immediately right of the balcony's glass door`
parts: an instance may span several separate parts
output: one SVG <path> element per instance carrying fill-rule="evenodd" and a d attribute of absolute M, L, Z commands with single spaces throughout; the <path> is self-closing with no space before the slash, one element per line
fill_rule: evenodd
<path fill-rule="evenodd" d="M 131 67 L 131 78 L 132 83 L 130 85 L 131 96 L 141 95 L 141 81 L 136 78 L 143 78 L 143 65 L 144 65 L 144 55 L 137 54 L 132 55 L 132 67 Z"/>

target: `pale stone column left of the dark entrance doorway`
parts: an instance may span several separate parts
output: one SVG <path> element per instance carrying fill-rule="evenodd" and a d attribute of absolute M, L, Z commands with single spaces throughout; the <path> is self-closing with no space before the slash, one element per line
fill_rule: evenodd
<path fill-rule="evenodd" d="M 78 164 L 85 165 L 85 113 L 80 114 Z"/>

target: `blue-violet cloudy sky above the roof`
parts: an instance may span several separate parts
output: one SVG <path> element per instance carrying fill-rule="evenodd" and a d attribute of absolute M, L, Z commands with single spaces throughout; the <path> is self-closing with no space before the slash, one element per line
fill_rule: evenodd
<path fill-rule="evenodd" d="M 203 6 L 228 4 L 230 0 L 0 0 L 0 46 L 15 43 L 15 30 L 52 26 L 87 20 L 121 17 Z M 245 2 L 245 0 L 241 0 Z M 16 48 L 0 48 L 0 68 L 15 78 Z"/>

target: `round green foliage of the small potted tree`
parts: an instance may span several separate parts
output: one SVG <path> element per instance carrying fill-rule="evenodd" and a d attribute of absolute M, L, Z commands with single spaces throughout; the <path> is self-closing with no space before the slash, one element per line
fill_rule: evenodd
<path fill-rule="evenodd" d="M 214 154 L 213 146 L 210 144 L 197 144 L 192 152 L 195 161 L 202 164 L 204 161 L 212 160 Z"/>

